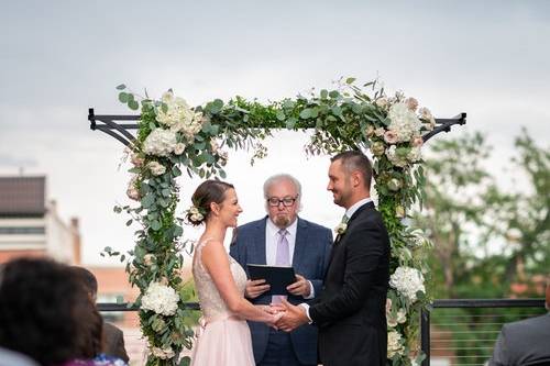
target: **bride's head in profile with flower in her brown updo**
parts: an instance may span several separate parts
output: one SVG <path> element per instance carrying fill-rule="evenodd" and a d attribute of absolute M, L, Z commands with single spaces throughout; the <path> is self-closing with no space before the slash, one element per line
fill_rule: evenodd
<path fill-rule="evenodd" d="M 202 222 L 216 222 L 228 228 L 237 226 L 237 218 L 242 212 L 233 185 L 221 180 L 201 182 L 191 197 L 193 206 L 200 213 L 196 220 L 195 212 L 187 213 L 187 221 L 194 225 Z"/>

